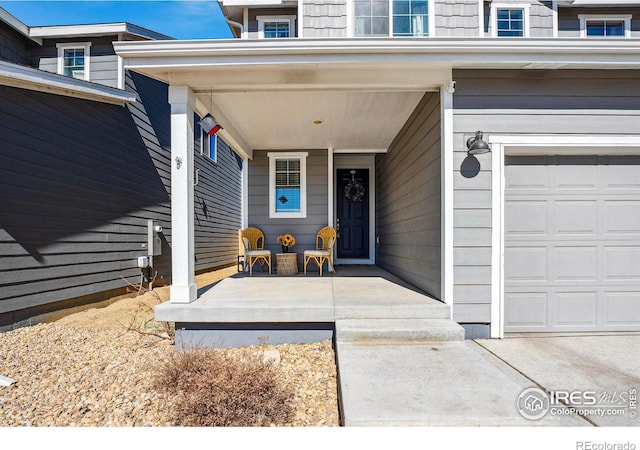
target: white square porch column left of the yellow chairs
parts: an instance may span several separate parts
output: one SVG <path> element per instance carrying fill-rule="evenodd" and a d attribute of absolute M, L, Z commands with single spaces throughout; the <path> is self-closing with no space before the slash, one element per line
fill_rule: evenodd
<path fill-rule="evenodd" d="M 171 104 L 171 303 L 197 297 L 194 245 L 193 130 L 195 96 L 187 86 L 170 86 Z"/>

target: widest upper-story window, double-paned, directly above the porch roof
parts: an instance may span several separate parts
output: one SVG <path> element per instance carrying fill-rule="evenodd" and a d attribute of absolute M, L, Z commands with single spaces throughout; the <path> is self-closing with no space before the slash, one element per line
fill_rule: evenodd
<path fill-rule="evenodd" d="M 428 36 L 429 0 L 355 0 L 356 36 Z"/>

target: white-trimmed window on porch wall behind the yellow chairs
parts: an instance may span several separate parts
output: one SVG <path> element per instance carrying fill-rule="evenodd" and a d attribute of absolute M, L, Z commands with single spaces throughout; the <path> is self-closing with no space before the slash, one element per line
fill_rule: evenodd
<path fill-rule="evenodd" d="M 268 153 L 269 217 L 307 217 L 307 152 Z"/>

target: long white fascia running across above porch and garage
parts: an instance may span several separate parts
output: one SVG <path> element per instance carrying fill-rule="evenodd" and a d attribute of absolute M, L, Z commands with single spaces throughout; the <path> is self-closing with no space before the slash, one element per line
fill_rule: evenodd
<path fill-rule="evenodd" d="M 571 68 L 640 66 L 640 39 L 544 38 L 281 39 L 116 42 L 135 70 L 287 63 L 439 63 L 452 68 Z"/>

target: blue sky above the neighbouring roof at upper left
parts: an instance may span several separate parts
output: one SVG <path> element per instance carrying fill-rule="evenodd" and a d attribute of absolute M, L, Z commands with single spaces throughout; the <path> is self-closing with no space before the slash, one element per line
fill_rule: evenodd
<path fill-rule="evenodd" d="M 0 1 L 29 26 L 130 22 L 176 39 L 231 38 L 217 0 Z"/>

